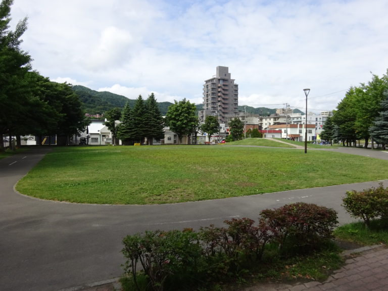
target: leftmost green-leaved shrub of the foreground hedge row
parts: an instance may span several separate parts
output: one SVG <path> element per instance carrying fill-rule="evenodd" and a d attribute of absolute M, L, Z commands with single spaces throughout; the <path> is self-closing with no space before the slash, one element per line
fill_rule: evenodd
<path fill-rule="evenodd" d="M 140 263 L 152 290 L 164 290 L 170 285 L 190 284 L 201 272 L 202 248 L 197 233 L 185 231 L 146 231 L 143 235 L 128 235 L 123 239 L 124 265 L 137 290 L 137 264 Z M 203 269 L 202 269 L 203 270 Z"/>

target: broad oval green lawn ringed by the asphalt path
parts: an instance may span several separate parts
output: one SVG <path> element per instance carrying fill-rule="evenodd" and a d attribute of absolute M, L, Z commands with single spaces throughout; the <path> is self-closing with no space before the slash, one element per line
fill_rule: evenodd
<path fill-rule="evenodd" d="M 387 166 L 367 157 L 296 149 L 68 147 L 47 154 L 17 190 L 79 203 L 177 203 L 386 179 L 381 169 Z"/>

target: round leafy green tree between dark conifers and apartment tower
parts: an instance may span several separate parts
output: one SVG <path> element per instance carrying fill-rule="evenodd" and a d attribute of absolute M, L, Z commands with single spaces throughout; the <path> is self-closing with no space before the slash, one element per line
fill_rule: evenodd
<path fill-rule="evenodd" d="M 174 104 L 168 108 L 167 123 L 170 129 L 178 135 L 179 143 L 182 143 L 184 135 L 191 135 L 197 125 L 196 105 L 183 99 L 174 101 Z"/>

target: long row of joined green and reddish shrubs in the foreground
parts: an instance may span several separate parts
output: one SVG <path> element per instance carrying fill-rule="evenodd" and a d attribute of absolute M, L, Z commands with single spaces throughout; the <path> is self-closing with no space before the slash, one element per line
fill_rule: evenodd
<path fill-rule="evenodd" d="M 126 236 L 123 287 L 193 290 L 230 278 L 244 281 L 241 274 L 262 259 L 268 243 L 278 243 L 282 250 L 316 248 L 332 236 L 337 220 L 334 210 L 296 203 L 263 210 L 257 225 L 249 218 L 224 223 L 227 227 L 210 225 L 198 232 L 157 230 Z"/>

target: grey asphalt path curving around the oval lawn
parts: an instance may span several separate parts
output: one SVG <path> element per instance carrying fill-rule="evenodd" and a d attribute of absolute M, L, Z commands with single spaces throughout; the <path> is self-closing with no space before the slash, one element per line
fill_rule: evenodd
<path fill-rule="evenodd" d="M 353 219 L 341 207 L 345 192 L 378 185 L 376 181 L 149 206 L 70 204 L 38 200 L 15 192 L 17 181 L 49 151 L 49 148 L 32 148 L 0 160 L 2 291 L 57 291 L 119 277 L 120 265 L 124 263 L 120 253 L 122 238 L 146 229 L 222 225 L 232 217 L 257 220 L 262 209 L 299 201 L 333 208 L 340 223 L 347 223 Z M 388 159 L 388 153 L 371 150 L 331 151 Z M 384 186 L 388 186 L 388 180 L 384 180 Z"/>

